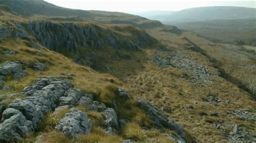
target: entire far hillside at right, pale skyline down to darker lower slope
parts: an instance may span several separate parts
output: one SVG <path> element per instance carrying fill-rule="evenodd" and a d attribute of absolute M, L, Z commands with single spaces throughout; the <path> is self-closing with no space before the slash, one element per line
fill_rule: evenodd
<path fill-rule="evenodd" d="M 256 9 L 234 6 L 210 6 L 171 12 L 158 12 L 144 17 L 160 20 L 164 24 L 193 31 L 215 42 L 255 45 Z M 140 15 L 142 16 L 142 15 Z"/>

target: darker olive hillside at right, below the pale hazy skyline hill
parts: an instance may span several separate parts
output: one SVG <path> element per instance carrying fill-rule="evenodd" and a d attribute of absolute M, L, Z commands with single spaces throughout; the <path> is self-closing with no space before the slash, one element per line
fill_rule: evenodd
<path fill-rule="evenodd" d="M 215 42 L 255 45 L 256 19 L 212 20 L 170 23 L 183 30 L 196 32 Z"/>

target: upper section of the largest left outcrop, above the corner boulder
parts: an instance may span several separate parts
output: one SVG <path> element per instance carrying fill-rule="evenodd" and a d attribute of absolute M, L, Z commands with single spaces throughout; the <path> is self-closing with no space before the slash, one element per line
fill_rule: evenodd
<path fill-rule="evenodd" d="M 26 119 L 32 121 L 33 127 L 44 119 L 44 114 L 56 108 L 59 98 L 72 88 L 72 84 L 63 78 L 39 78 L 23 91 L 23 99 L 14 99 L 8 108 L 14 108 L 23 113 Z"/>

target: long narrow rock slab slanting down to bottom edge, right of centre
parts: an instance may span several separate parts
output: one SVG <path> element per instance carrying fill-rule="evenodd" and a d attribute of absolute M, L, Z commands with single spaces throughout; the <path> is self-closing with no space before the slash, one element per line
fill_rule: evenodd
<path fill-rule="evenodd" d="M 181 142 L 187 142 L 183 127 L 181 127 L 179 124 L 175 123 L 171 119 L 167 118 L 167 116 L 165 116 L 163 112 L 160 112 L 160 110 L 155 108 L 152 104 L 145 103 L 140 100 L 138 100 L 137 103 L 140 108 L 145 110 L 151 120 L 154 121 L 154 124 L 156 124 L 160 128 L 170 128 L 170 130 L 174 130 L 179 135 L 179 140 Z"/>

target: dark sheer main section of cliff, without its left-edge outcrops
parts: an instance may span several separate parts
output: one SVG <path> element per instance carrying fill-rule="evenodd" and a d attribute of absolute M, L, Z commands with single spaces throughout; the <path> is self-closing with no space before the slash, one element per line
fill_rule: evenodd
<path fill-rule="evenodd" d="M 65 23 L 55 24 L 50 22 L 31 22 L 25 27 L 35 37 L 41 45 L 51 50 L 58 51 L 64 46 L 72 52 L 77 52 L 78 45 L 82 47 L 103 47 L 103 45 L 127 49 L 138 49 L 138 46 L 149 44 L 149 39 L 133 39 L 128 42 L 120 38 L 120 35 L 110 30 L 100 28 L 95 25 L 81 26 L 77 24 Z M 143 33 L 145 34 L 145 33 Z M 149 38 L 149 36 L 147 37 Z"/>

